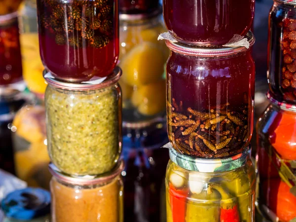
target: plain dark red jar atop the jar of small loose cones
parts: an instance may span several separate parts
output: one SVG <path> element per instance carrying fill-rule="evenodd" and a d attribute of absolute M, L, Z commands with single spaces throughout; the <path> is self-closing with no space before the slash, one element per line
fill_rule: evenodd
<path fill-rule="evenodd" d="M 163 0 L 163 16 L 169 33 L 179 42 L 223 45 L 248 33 L 254 6 L 255 0 Z"/>

